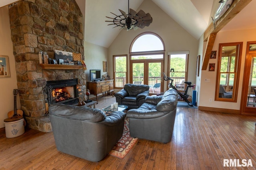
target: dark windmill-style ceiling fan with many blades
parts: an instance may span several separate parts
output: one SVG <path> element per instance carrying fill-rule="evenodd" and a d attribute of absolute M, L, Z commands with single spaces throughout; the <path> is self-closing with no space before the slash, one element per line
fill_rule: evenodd
<path fill-rule="evenodd" d="M 150 23 L 152 23 L 152 17 L 149 13 L 145 13 L 144 11 L 140 10 L 138 13 L 134 11 L 133 9 L 129 8 L 129 0 L 128 0 L 128 14 L 126 14 L 124 11 L 119 10 L 122 15 L 116 15 L 112 12 L 111 14 L 114 14 L 116 17 L 110 18 L 113 21 L 106 21 L 106 22 L 113 22 L 108 25 L 116 25 L 115 27 L 122 27 L 123 29 L 129 31 L 129 30 L 136 30 L 139 28 L 144 28 L 145 26 L 149 26 Z M 113 28 L 115 28 L 113 27 Z"/>

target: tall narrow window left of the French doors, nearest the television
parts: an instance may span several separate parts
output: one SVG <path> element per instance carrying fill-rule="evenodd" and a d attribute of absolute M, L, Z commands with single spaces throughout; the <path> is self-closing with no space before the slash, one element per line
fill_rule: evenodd
<path fill-rule="evenodd" d="M 127 82 L 127 55 L 114 55 L 114 88 L 123 88 Z"/>

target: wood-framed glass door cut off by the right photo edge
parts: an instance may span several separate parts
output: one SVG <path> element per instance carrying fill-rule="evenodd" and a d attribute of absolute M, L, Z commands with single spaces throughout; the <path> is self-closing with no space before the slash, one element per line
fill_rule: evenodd
<path fill-rule="evenodd" d="M 247 43 L 242 88 L 242 113 L 256 114 L 256 41 Z"/>

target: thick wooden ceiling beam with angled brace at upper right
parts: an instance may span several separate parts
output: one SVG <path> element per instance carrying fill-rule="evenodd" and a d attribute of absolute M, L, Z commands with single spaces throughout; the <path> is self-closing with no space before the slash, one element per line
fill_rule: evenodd
<path fill-rule="evenodd" d="M 208 25 L 206 31 L 204 31 L 204 41 L 207 41 L 206 50 L 203 57 L 202 70 L 206 70 L 208 66 L 209 59 L 212 53 L 212 47 L 214 45 L 214 41 L 217 33 L 229 22 L 231 21 L 236 14 L 238 14 L 242 9 L 248 5 L 252 0 L 233 0 L 230 8 L 226 11 L 226 13 L 220 17 L 219 20 L 215 23 L 215 29 L 213 23 Z"/>

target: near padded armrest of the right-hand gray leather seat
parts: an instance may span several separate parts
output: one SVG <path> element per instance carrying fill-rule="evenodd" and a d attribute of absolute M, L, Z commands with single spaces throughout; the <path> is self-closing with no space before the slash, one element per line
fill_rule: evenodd
<path fill-rule="evenodd" d="M 162 112 L 157 110 L 146 110 L 146 109 L 130 109 L 127 111 L 126 116 L 133 119 L 153 119 L 161 117 L 170 112 Z"/>

